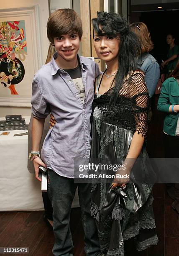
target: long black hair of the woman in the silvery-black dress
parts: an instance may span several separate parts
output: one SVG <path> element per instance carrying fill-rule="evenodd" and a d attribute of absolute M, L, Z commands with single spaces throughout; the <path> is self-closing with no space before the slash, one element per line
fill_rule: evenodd
<path fill-rule="evenodd" d="M 136 34 L 131 31 L 128 21 L 118 13 L 97 12 L 97 18 L 92 19 L 92 26 L 93 31 L 99 36 L 120 38 L 118 71 L 113 81 L 114 90 L 110 99 L 110 105 L 115 105 L 125 77 L 137 69 L 141 44 Z"/>

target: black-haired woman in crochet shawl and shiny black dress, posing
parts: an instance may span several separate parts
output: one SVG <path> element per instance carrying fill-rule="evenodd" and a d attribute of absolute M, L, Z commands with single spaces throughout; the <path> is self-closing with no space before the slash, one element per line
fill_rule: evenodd
<path fill-rule="evenodd" d="M 143 74 L 135 72 L 139 40 L 128 22 L 116 13 L 97 12 L 92 25 L 97 56 L 106 62 L 107 69 L 95 83 L 91 161 L 116 163 L 124 159 L 128 175 L 140 156 L 141 172 L 148 174 L 143 146 L 148 90 Z M 92 184 L 91 213 L 97 222 L 103 255 L 123 256 L 123 241 L 129 238 L 135 237 L 139 251 L 158 242 L 151 207 L 152 185 L 128 183 L 127 175 L 115 178 L 112 184 L 106 179 Z"/>

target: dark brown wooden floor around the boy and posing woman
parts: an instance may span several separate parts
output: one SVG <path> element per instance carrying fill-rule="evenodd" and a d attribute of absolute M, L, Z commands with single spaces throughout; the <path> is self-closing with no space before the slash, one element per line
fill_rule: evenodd
<path fill-rule="evenodd" d="M 157 97 L 153 100 L 153 121 L 148 131 L 147 149 L 150 157 L 164 157 L 163 115 L 156 110 L 156 102 Z M 166 194 L 164 184 L 154 185 L 153 197 L 159 243 L 140 253 L 131 243 L 125 256 L 179 256 L 179 215 L 171 208 L 173 201 Z M 70 225 L 74 256 L 85 256 L 79 208 L 72 209 Z M 32 256 L 49 256 L 52 255 L 53 244 L 53 230 L 44 223 L 42 211 L 0 212 L 0 247 L 29 247 Z"/>

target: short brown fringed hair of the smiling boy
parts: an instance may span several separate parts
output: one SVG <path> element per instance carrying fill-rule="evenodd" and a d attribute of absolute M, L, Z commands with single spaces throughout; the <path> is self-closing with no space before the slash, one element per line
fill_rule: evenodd
<path fill-rule="evenodd" d="M 82 37 L 82 21 L 72 9 L 59 9 L 54 11 L 47 22 L 47 37 L 54 45 L 54 37 L 64 34 L 77 33 Z"/>

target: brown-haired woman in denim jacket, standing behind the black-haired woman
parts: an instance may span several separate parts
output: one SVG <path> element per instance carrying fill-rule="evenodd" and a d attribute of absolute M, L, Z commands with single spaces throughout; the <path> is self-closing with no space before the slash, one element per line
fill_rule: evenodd
<path fill-rule="evenodd" d="M 131 24 L 131 30 L 138 36 L 141 41 L 141 56 L 138 58 L 138 67 L 145 74 L 145 82 L 151 98 L 155 92 L 157 82 L 160 77 L 160 67 L 156 59 L 149 54 L 153 49 L 153 43 L 146 24 L 143 22 Z"/>

